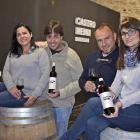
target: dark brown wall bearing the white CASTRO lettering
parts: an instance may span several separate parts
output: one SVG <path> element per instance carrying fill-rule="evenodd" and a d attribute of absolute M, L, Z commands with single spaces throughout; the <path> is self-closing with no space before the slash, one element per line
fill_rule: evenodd
<path fill-rule="evenodd" d="M 23 22 L 31 27 L 36 41 L 44 41 L 44 28 L 50 20 L 64 27 L 64 40 L 79 55 L 84 66 L 89 53 L 98 46 L 94 28 L 106 22 L 117 32 L 120 14 L 90 0 L 0 0 L 0 71 L 11 47 L 14 27 Z M 76 94 L 76 105 L 86 101 L 86 93 Z"/>

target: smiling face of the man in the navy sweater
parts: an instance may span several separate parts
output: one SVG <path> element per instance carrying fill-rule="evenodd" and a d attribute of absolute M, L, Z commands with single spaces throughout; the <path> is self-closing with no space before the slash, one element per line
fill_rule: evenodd
<path fill-rule="evenodd" d="M 115 48 L 116 33 L 113 33 L 109 27 L 104 26 L 95 31 L 95 38 L 103 56 L 107 56 Z"/>

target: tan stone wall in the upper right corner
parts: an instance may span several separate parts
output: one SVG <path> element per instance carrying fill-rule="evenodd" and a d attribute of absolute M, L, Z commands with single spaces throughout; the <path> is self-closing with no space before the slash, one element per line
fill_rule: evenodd
<path fill-rule="evenodd" d="M 107 8 L 120 12 L 121 19 L 127 16 L 140 20 L 140 0 L 90 0 Z"/>

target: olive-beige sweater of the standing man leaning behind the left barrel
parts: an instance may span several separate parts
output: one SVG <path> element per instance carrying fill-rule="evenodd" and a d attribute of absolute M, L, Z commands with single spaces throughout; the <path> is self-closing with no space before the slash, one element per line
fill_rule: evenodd
<path fill-rule="evenodd" d="M 78 84 L 78 79 L 83 71 L 81 60 L 77 53 L 68 47 L 67 42 L 62 41 L 64 49 L 60 53 L 52 55 L 51 50 L 47 47 L 47 53 L 50 58 L 50 62 L 55 62 L 57 81 L 56 89 L 60 91 L 60 96 L 56 98 L 49 97 L 44 91 L 42 99 L 49 99 L 52 101 L 54 107 L 69 107 L 75 102 L 75 94 L 81 89 Z M 40 98 L 41 99 L 41 98 Z"/>

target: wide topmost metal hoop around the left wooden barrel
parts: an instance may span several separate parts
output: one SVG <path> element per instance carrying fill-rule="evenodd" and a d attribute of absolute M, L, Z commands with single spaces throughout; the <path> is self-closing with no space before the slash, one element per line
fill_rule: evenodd
<path fill-rule="evenodd" d="M 0 115 L 5 117 L 33 117 L 45 115 L 52 111 L 52 105 L 35 108 L 5 108 L 0 107 Z"/>

